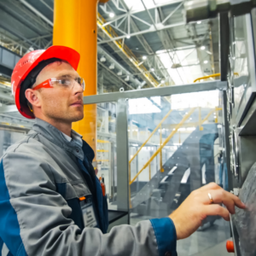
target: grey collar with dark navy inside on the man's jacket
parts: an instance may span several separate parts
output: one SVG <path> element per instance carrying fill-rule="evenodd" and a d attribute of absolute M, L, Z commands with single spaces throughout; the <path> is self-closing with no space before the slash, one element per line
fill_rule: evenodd
<path fill-rule="evenodd" d="M 42 119 L 35 120 L 35 124 L 33 125 L 32 130 L 47 138 L 51 143 L 54 143 L 55 145 L 64 148 L 68 152 L 74 154 L 80 160 L 84 160 L 84 155 L 87 156 L 90 162 L 94 159 L 94 152 L 92 148 L 90 148 L 90 146 L 85 143 L 84 140 L 82 147 L 79 146 L 79 143 L 75 143 L 73 140 L 68 141 L 61 131 Z M 78 135 L 78 133 L 76 134 Z"/>

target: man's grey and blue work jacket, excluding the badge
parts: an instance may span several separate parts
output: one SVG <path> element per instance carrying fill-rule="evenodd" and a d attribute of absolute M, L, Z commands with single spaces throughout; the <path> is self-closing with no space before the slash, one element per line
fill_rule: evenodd
<path fill-rule="evenodd" d="M 0 160 L 0 255 L 177 255 L 170 218 L 108 229 L 107 199 L 91 165 L 93 150 L 68 142 L 36 119 Z M 84 226 L 80 197 L 91 197 L 97 226 Z M 2 252 L 2 253 L 1 253 Z"/>

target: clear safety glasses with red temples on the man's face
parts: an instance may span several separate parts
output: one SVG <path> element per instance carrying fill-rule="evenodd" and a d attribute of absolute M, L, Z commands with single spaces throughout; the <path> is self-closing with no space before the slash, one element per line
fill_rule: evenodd
<path fill-rule="evenodd" d="M 59 87 L 59 86 L 71 90 L 71 89 L 73 89 L 73 86 L 75 83 L 79 84 L 84 90 L 85 83 L 84 83 L 84 79 L 82 79 L 82 78 L 47 79 L 43 83 L 38 84 L 32 90 L 39 90 L 41 88 L 54 88 L 54 87 Z"/>

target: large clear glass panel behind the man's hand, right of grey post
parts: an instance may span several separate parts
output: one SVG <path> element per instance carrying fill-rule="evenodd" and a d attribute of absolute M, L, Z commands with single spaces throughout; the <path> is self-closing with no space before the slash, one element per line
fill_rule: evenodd
<path fill-rule="evenodd" d="M 129 100 L 131 224 L 170 215 L 204 184 L 226 188 L 219 102 L 218 90 Z M 229 223 L 207 218 L 177 242 L 177 254 L 200 253 L 229 237 Z"/>

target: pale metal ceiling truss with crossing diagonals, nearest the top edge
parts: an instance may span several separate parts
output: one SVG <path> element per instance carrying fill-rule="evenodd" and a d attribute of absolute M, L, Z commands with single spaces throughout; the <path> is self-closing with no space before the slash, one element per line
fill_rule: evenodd
<path fill-rule="evenodd" d="M 166 17 L 165 20 L 162 20 L 161 22 L 155 22 L 157 20 L 155 20 L 155 21 L 152 20 L 152 22 L 150 22 L 150 23 L 148 23 L 147 21 L 142 20 L 139 17 L 137 17 L 137 15 L 136 15 L 138 13 L 137 11 L 132 11 L 131 9 L 128 9 L 128 10 L 125 9 L 125 4 L 121 0 L 112 0 L 111 3 L 113 3 L 117 9 L 124 12 L 124 14 L 123 15 L 118 15 L 113 19 L 108 19 L 107 22 L 102 24 L 102 27 L 111 25 L 116 31 L 118 31 L 120 33 L 120 35 L 118 37 L 111 38 L 111 39 L 108 39 L 108 40 L 102 40 L 102 41 L 98 42 L 98 44 L 106 44 L 108 42 L 112 42 L 112 41 L 119 40 L 119 39 L 122 39 L 122 38 L 131 38 L 133 36 L 142 35 L 142 34 L 145 34 L 145 33 L 148 33 L 148 32 L 158 32 L 158 31 L 161 31 L 161 30 L 166 30 L 168 28 L 172 28 L 174 26 L 183 26 L 183 25 L 185 25 L 185 21 L 177 22 L 177 23 L 174 23 L 174 24 L 166 24 L 166 21 L 170 20 L 170 18 L 177 11 L 177 9 L 179 9 L 183 6 L 183 1 L 181 1 L 181 0 L 173 1 L 172 3 L 155 5 L 154 10 L 157 11 L 157 9 L 160 6 L 171 5 L 171 4 L 174 4 L 174 3 L 180 3 L 177 6 L 177 8 L 174 9 L 172 11 L 172 13 Z M 145 5 L 144 5 L 144 7 L 146 9 Z M 109 14 L 109 13 L 113 12 L 113 10 L 111 9 L 111 7 L 109 6 L 108 3 L 106 3 L 104 6 L 101 6 L 101 8 L 106 14 Z M 144 30 L 135 32 L 132 29 L 133 27 L 132 27 L 132 24 L 131 24 L 131 19 L 137 20 L 137 22 L 141 22 L 144 26 L 146 25 L 147 28 L 144 29 Z M 125 24 L 126 29 L 125 30 L 120 29 L 120 26 L 124 26 L 124 24 Z"/>

